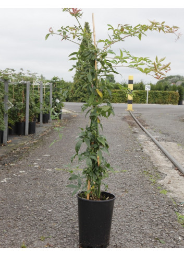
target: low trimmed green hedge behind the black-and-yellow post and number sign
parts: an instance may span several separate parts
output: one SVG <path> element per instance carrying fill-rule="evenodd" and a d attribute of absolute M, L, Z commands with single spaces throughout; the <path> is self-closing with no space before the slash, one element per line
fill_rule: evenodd
<path fill-rule="evenodd" d="M 133 103 L 145 104 L 147 92 L 134 91 Z M 112 103 L 127 103 L 127 96 L 124 91 L 113 90 L 112 97 L 104 94 L 104 98 L 108 98 Z M 178 105 L 179 93 L 171 91 L 149 91 L 148 103 L 149 104 L 173 104 Z"/>

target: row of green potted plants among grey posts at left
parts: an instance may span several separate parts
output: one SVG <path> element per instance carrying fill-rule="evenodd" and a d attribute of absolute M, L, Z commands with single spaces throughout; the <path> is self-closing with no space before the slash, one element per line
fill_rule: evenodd
<path fill-rule="evenodd" d="M 6 75 L 5 74 L 6 71 Z M 47 123 L 49 119 L 49 113 L 52 110 L 52 119 L 57 118 L 56 114 L 60 114 L 61 109 L 64 106 L 63 101 L 65 99 L 66 91 L 62 90 L 62 86 L 57 81 L 44 81 L 43 82 L 43 104 L 40 107 L 40 83 L 35 82 L 35 77 L 23 77 L 20 81 L 20 77 L 16 77 L 17 74 L 12 73 L 10 69 L 1 71 L 3 79 L 0 82 L 0 131 L 4 131 L 4 81 L 8 81 L 8 133 L 23 135 L 25 132 L 25 121 L 26 121 L 26 80 L 30 82 L 30 93 L 29 93 L 29 126 L 34 123 L 34 128 L 29 129 L 29 133 L 35 133 L 35 122 L 40 121 L 40 112 L 43 113 L 43 123 Z M 14 76 L 13 76 L 14 74 Z M 12 79 L 12 77 L 14 79 Z M 22 78 L 22 77 L 21 77 Z M 53 77 L 54 78 L 54 77 Z M 19 82 L 16 80 L 19 80 Z M 50 106 L 50 83 L 52 86 L 52 107 Z M 1 132 L 1 143 L 2 143 L 2 132 Z"/>

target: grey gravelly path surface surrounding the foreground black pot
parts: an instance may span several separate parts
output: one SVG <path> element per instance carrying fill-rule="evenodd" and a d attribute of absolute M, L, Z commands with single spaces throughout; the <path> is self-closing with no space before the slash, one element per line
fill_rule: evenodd
<path fill-rule="evenodd" d="M 75 153 L 78 127 L 87 122 L 83 114 L 64 115 L 61 141 L 49 147 L 58 140 L 58 132 L 50 130 L 27 149 L 1 158 L 0 248 L 79 247 L 77 198 L 66 187 L 64 166 Z M 107 159 L 117 171 L 107 181 L 116 196 L 109 248 L 183 248 L 177 202 L 157 189 L 163 174 L 143 152 L 129 114 L 102 123 Z"/>

